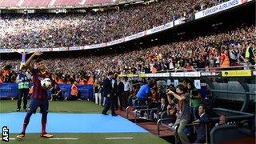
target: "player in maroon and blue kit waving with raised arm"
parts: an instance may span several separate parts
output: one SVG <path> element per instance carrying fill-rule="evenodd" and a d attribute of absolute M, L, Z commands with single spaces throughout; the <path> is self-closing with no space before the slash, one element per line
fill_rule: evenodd
<path fill-rule="evenodd" d="M 46 70 L 46 66 L 42 60 L 37 60 L 37 69 L 34 69 L 32 66 L 30 66 L 30 62 L 34 58 L 34 56 L 40 56 L 42 54 L 41 51 L 36 51 L 34 54 L 30 56 L 30 58 L 26 61 L 26 65 L 29 69 L 30 72 L 33 74 L 33 82 L 34 82 L 34 90 L 33 94 L 31 95 L 31 100 L 30 100 L 30 106 L 29 110 L 27 110 L 26 117 L 24 119 L 23 123 L 23 129 L 22 133 L 17 135 L 17 138 L 23 139 L 25 138 L 26 134 L 26 126 L 28 126 L 30 122 L 30 117 L 32 114 L 36 113 L 36 110 L 38 107 L 40 107 L 40 113 L 42 113 L 42 132 L 41 132 L 41 137 L 42 138 L 52 138 L 52 134 L 47 134 L 46 133 L 46 121 L 47 121 L 47 114 L 48 114 L 48 107 L 49 107 L 49 102 L 47 99 L 47 92 L 46 89 L 44 89 L 41 86 L 41 80 L 44 78 L 50 78 L 50 72 Z M 52 80 L 53 85 L 55 82 Z"/>

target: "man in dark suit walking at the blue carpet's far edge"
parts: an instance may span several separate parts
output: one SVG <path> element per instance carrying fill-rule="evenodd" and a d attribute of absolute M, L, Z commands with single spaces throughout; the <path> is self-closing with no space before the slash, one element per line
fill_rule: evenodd
<path fill-rule="evenodd" d="M 115 114 L 114 112 L 114 95 L 113 95 L 113 89 L 114 89 L 114 80 L 112 79 L 114 74 L 112 72 L 109 72 L 107 74 L 107 78 L 103 82 L 103 97 L 106 98 L 105 101 L 105 107 L 102 110 L 102 114 L 106 114 L 108 110 L 111 109 L 112 116 L 117 116 L 118 114 Z"/>

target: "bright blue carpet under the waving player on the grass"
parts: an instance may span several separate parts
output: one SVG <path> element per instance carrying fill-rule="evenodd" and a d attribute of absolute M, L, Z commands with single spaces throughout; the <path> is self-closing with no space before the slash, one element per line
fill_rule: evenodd
<path fill-rule="evenodd" d="M 26 113 L 0 114 L 0 126 L 8 126 L 10 133 L 20 133 Z M 26 133 L 41 133 L 42 114 L 32 114 Z M 50 133 L 147 133 L 121 116 L 102 114 L 49 113 L 46 131 Z"/>

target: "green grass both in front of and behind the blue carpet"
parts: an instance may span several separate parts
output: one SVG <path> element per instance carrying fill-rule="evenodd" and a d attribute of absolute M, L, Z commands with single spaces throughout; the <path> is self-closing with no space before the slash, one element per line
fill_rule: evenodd
<path fill-rule="evenodd" d="M 16 100 L 0 100 L 0 113 L 9 113 L 16 110 Z M 94 102 L 85 101 L 63 101 L 50 102 L 50 112 L 54 113 L 82 113 L 82 114 L 99 114 L 102 111 L 102 106 L 94 104 Z M 33 117 L 33 115 L 32 115 Z M 0 118 L 1 119 L 1 118 Z M 39 125 L 41 126 L 41 125 Z M 2 131 L 1 131 L 2 132 Z M 2 134 L 1 134 L 2 135 Z M 17 134 L 10 134 L 10 138 L 15 138 Z M 9 143 L 122 143 L 122 144 L 136 144 L 136 143 L 168 143 L 162 138 L 158 138 L 150 133 L 104 133 L 104 134 L 54 134 L 54 138 L 76 138 L 72 140 L 56 140 L 40 138 L 39 134 L 26 134 L 23 140 L 12 139 Z M 106 139 L 106 138 L 130 138 L 130 139 Z M 0 143 L 3 143 L 2 141 Z"/>

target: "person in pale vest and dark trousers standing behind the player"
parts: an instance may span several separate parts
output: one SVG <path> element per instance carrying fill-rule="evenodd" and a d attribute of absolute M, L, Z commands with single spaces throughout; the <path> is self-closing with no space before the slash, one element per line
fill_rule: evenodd
<path fill-rule="evenodd" d="M 18 102 L 16 111 L 21 110 L 22 97 L 23 109 L 26 110 L 27 96 L 30 88 L 30 78 L 26 74 L 26 66 L 22 66 L 22 70 L 18 71 L 16 82 L 18 83 Z"/>

